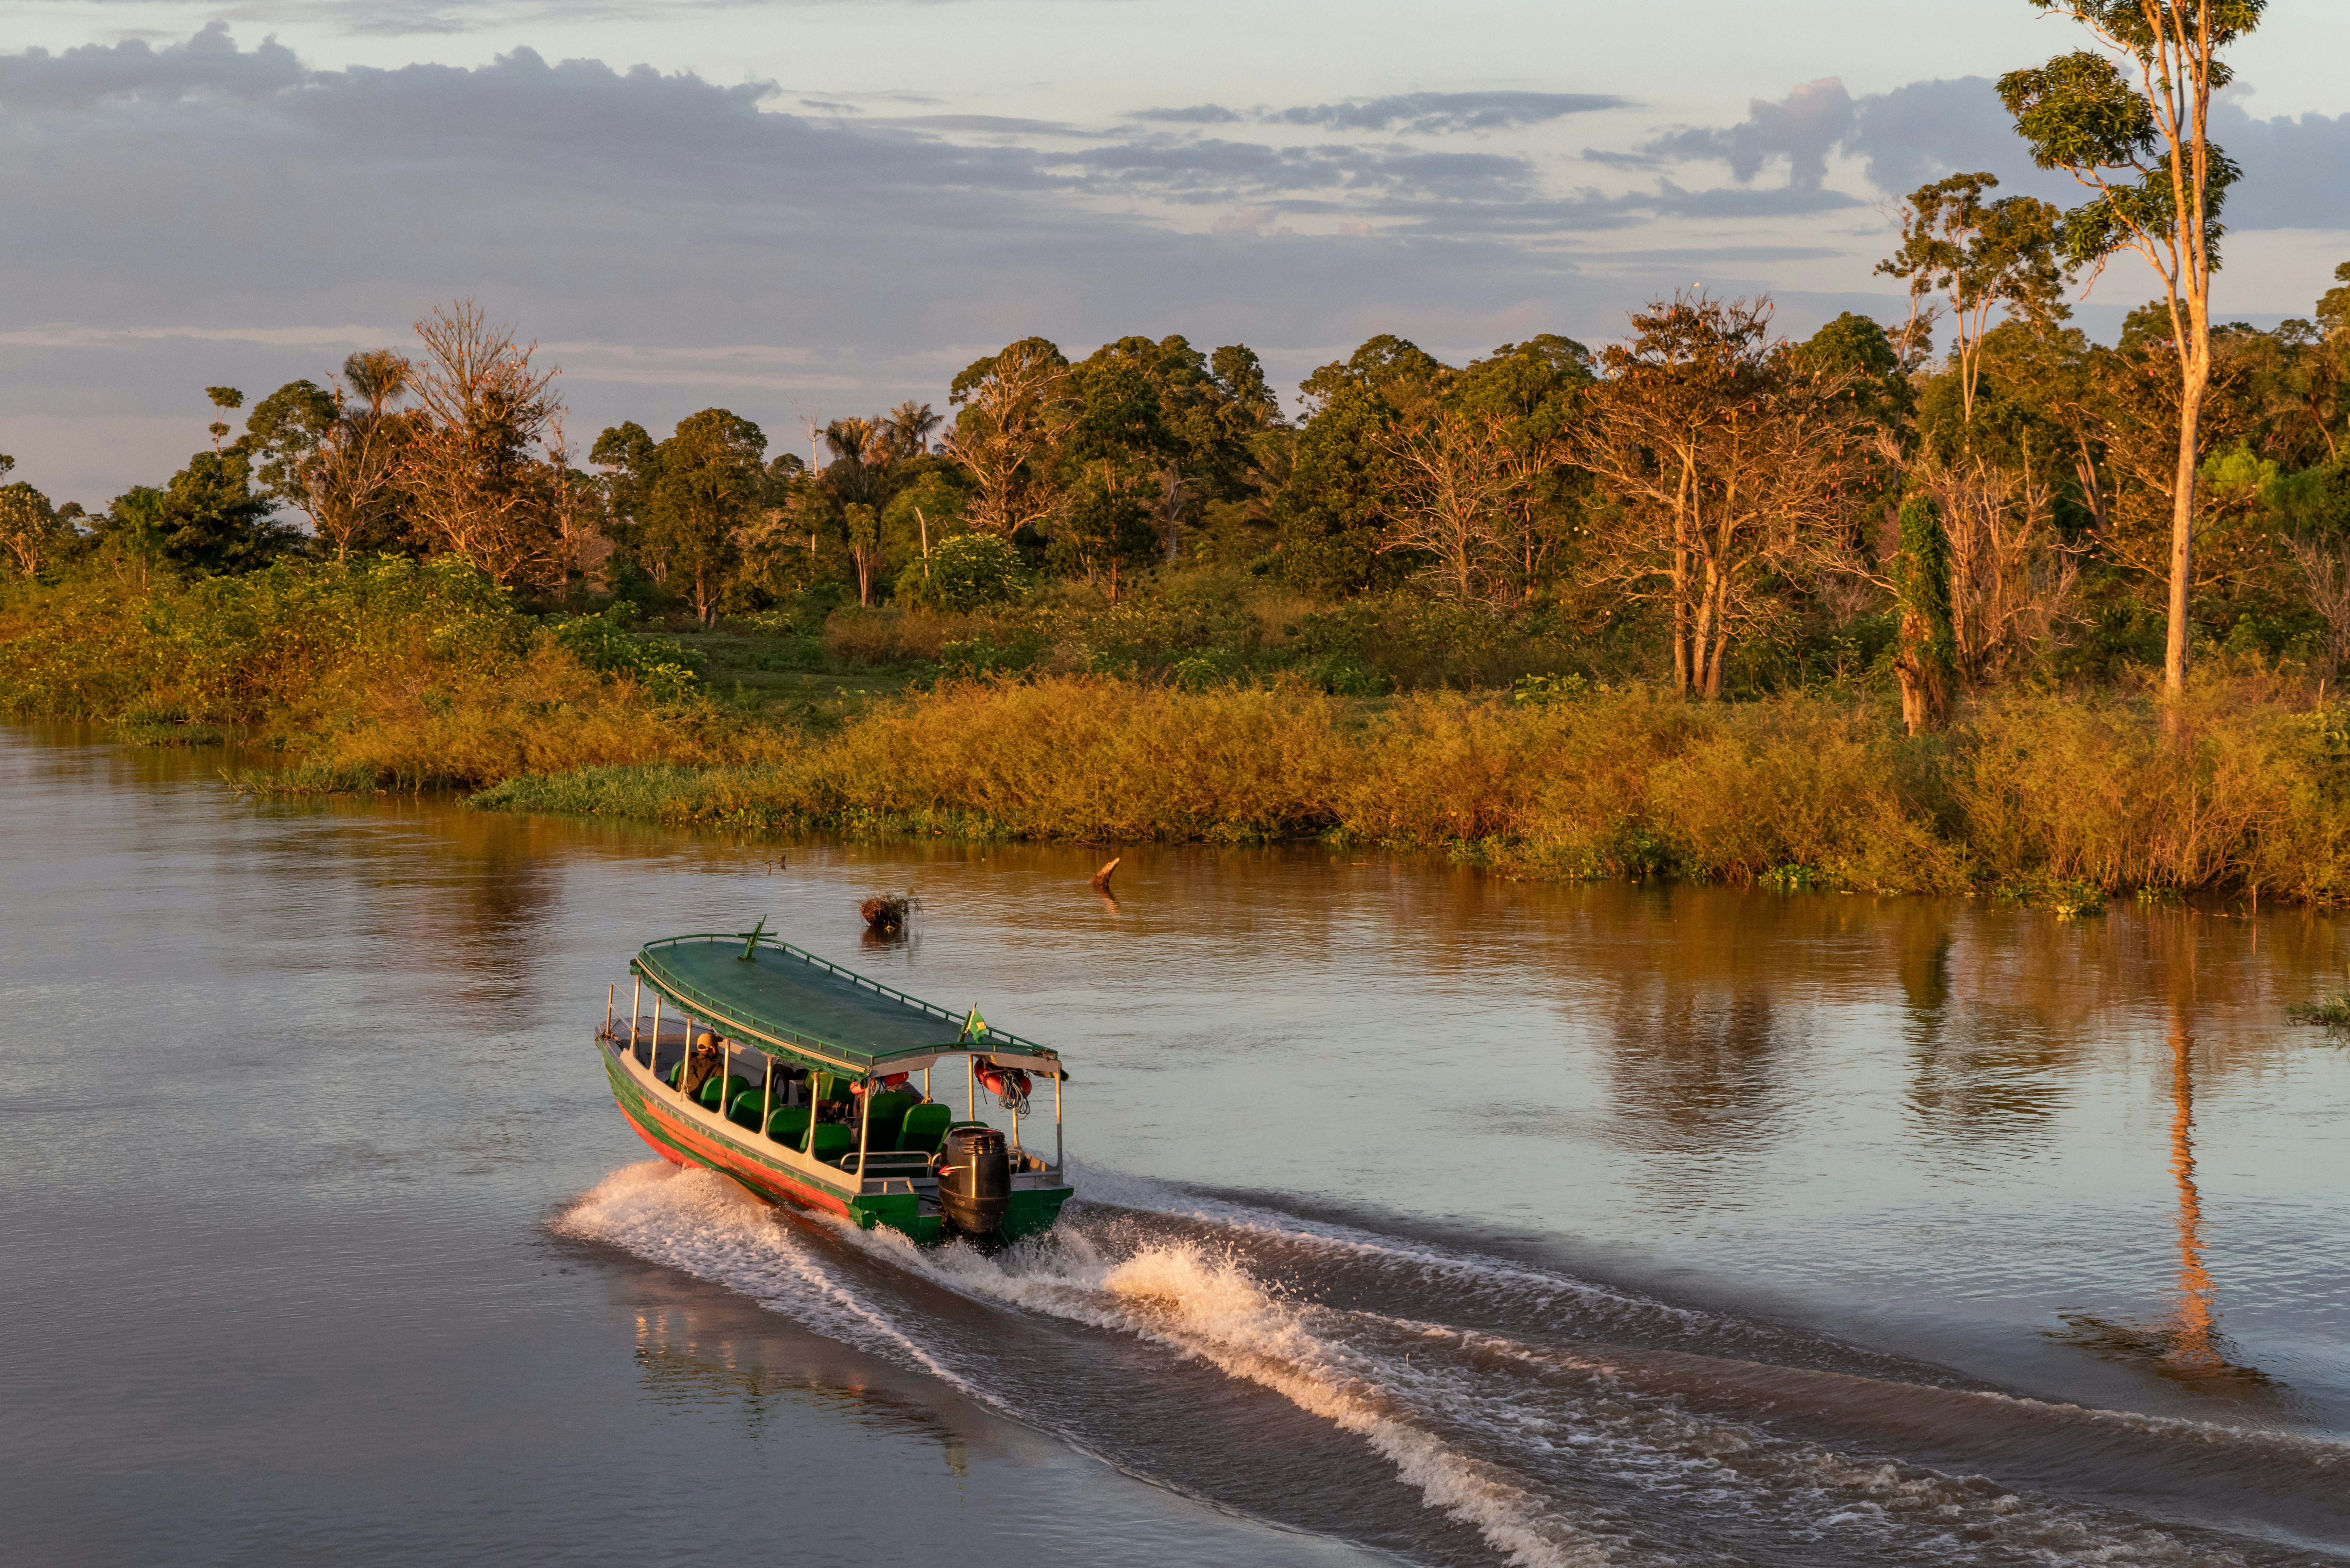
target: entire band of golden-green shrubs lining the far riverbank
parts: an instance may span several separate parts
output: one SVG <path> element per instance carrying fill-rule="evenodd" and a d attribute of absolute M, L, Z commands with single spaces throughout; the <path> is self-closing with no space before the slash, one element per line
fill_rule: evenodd
<path fill-rule="evenodd" d="M 733 663 L 759 661 L 761 635 L 736 632 Z M 2059 907 L 2350 896 L 2345 715 L 2249 668 L 2200 677 L 2174 731 L 2146 691 L 2002 691 L 1929 738 L 1866 691 L 1349 696 L 1300 672 L 940 665 L 728 686 L 684 642 L 538 621 L 411 562 L 19 590 L 0 658 L 12 712 L 146 741 L 235 726 L 280 759 L 237 785 L 275 795 L 456 788 L 496 811 L 752 835 L 1321 837 L 1520 877 Z"/>

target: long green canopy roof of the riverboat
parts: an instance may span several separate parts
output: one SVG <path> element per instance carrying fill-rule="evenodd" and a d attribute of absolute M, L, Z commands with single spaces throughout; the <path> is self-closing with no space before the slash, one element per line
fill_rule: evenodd
<path fill-rule="evenodd" d="M 949 1051 L 1060 1060 L 1060 1053 L 985 1020 L 966 1034 L 968 1011 L 919 1001 L 750 931 L 646 943 L 630 969 L 731 1039 L 815 1067 L 865 1074 Z"/>

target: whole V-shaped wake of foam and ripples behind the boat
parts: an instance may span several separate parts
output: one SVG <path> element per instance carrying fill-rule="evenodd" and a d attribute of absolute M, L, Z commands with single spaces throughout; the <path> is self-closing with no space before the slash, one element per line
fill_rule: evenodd
<path fill-rule="evenodd" d="M 2312 1563 L 2350 1446 L 2019 1399 L 1542 1267 L 1088 1173 L 994 1255 L 613 1173 L 559 1229 L 1140 1476 L 1412 1561 Z M 1107 1204 L 1102 1199 L 1116 1199 Z"/>

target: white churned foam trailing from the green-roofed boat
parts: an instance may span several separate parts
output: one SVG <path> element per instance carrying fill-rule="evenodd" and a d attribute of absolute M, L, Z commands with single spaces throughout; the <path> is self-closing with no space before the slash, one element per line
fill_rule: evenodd
<path fill-rule="evenodd" d="M 1875 1554 L 1911 1561 L 2240 1561 L 2146 1521 L 2016 1497 L 1981 1476 L 1774 1436 L 1643 1387 L 1645 1378 L 1626 1380 L 1605 1354 L 1295 1300 L 1267 1288 L 1229 1251 L 1154 1239 L 1123 1222 L 1109 1227 L 1114 1241 L 1088 1234 L 1097 1225 L 1079 1218 L 996 1255 L 964 1244 L 916 1248 L 898 1232 L 862 1232 L 822 1215 L 815 1225 L 783 1220 L 724 1178 L 651 1161 L 606 1178 L 559 1227 L 728 1286 L 1020 1420 L 1034 1415 L 987 1387 L 985 1361 L 959 1366 L 947 1347 L 924 1345 L 886 1302 L 848 1284 L 844 1274 L 862 1269 L 832 1239 L 982 1305 L 1168 1347 L 1361 1436 L 1426 1507 L 1528 1568 L 1671 1561 L 1636 1542 L 1612 1507 L 1586 1502 L 1593 1488 L 1600 1497 L 1645 1497 L 1638 1512 L 1661 1507 L 1683 1526 L 1741 1519 L 1765 1537 L 1847 1549 L 1873 1540 Z M 1476 1262 L 1368 1234 L 1361 1246 L 1410 1267 Z M 1570 1284 L 1532 1269 L 1525 1276 L 1516 1288 Z"/>

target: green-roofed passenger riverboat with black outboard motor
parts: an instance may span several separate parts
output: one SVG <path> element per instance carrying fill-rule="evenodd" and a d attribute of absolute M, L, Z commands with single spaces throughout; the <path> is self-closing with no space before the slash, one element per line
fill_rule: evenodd
<path fill-rule="evenodd" d="M 1069 1201 L 1060 1053 L 975 1006 L 907 997 L 776 940 L 764 919 L 646 943 L 627 969 L 630 1013 L 616 1018 L 606 990 L 597 1048 L 620 1114 L 670 1164 L 924 1244 L 1027 1237 Z M 1046 1084 L 1050 1159 L 1022 1145 Z M 982 1117 L 982 1088 L 1008 1131 Z"/>

